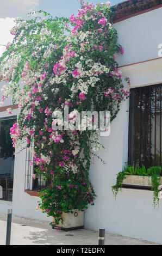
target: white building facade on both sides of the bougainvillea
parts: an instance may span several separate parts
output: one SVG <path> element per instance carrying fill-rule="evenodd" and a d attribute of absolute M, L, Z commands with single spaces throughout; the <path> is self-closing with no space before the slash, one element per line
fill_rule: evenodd
<path fill-rule="evenodd" d="M 127 6 L 124 8 L 130 10 L 129 4 L 132 4 L 132 1 L 126 2 Z M 122 4 L 119 4 L 116 9 L 119 6 L 121 8 Z M 123 76 L 130 77 L 131 92 L 134 95 L 139 95 L 139 97 L 132 97 L 133 109 L 135 111 L 135 107 L 140 108 L 142 95 L 145 102 L 151 102 L 148 104 L 148 111 L 144 111 L 145 115 L 137 116 L 139 120 L 142 120 L 143 130 L 146 130 L 144 126 L 147 126 L 147 119 L 151 120 L 151 115 L 148 112 L 150 109 L 152 110 L 152 104 L 155 105 L 155 112 L 153 112 L 154 115 L 151 120 L 153 127 L 152 130 L 149 130 L 152 141 L 148 140 L 151 146 L 147 147 L 146 145 L 146 137 L 149 136 L 145 132 L 144 143 L 140 144 L 139 151 L 136 150 L 135 153 L 135 148 L 138 145 L 133 143 L 134 135 L 130 136 L 134 134 L 134 127 L 137 127 L 134 113 L 129 108 L 129 100 L 122 102 L 119 114 L 111 123 L 110 136 L 102 137 L 102 143 L 106 149 L 99 152 L 99 155 L 107 164 L 102 164 L 95 159 L 94 164 L 91 165 L 90 179 L 97 198 L 95 205 L 85 210 L 84 217 L 85 228 L 92 230 L 105 228 L 106 231 L 114 234 L 162 244 L 162 200 L 160 200 L 159 209 L 154 210 L 152 191 L 122 188 L 122 191 L 117 195 L 117 200 L 111 191 L 111 187 L 116 182 L 116 174 L 121 172 L 128 162 L 134 164 L 136 161 L 136 164 L 139 162 L 145 164 L 148 161 L 149 156 L 146 159 L 148 148 L 152 154 L 159 154 L 160 159 L 157 160 L 159 162 L 155 162 L 155 164 L 161 163 L 161 103 L 159 102 L 161 102 L 162 57 L 159 55 L 158 46 L 162 44 L 162 5 L 155 4 L 151 8 L 146 8 L 145 5 L 144 7 L 144 11 L 134 11 L 131 16 L 122 14 L 120 19 L 114 21 L 114 27 L 117 29 L 119 43 L 124 48 L 124 54 L 117 57 L 120 71 L 122 71 Z M 149 93 L 155 95 L 154 97 L 157 97 L 158 100 L 150 99 Z M 5 106 L 9 105 L 11 105 L 10 102 L 5 102 L 4 107 L 0 108 L 0 122 L 9 118 L 5 111 Z M 10 117 L 16 118 L 17 113 L 18 109 L 15 108 Z M 143 121 L 144 123 L 142 123 Z M 140 139 L 142 141 L 142 137 Z M 137 156 L 138 154 L 139 156 Z M 147 162 L 147 164 L 149 163 Z M 13 199 L 10 200 L 4 191 L 3 200 L 0 198 L 0 213 L 6 214 L 7 209 L 13 209 L 13 214 L 17 216 L 51 221 L 45 214 L 36 211 L 39 200 L 36 192 L 24 192 L 27 165 L 26 151 L 24 150 L 15 156 L 13 191 L 8 191 L 8 194 L 13 192 Z M 1 176 L 3 176 L 4 184 L 5 176 L 2 174 L 0 165 L 0 181 Z M 10 178 L 12 179 L 12 174 L 10 174 Z"/>

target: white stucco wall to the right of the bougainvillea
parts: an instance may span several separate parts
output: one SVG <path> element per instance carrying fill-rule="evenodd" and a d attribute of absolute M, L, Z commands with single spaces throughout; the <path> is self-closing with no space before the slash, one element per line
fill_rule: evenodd
<path fill-rule="evenodd" d="M 162 42 L 160 20 L 162 8 L 115 23 L 119 43 L 124 47 L 123 56 L 117 57 L 120 66 L 158 58 L 158 45 Z M 131 87 L 147 86 L 162 82 L 162 59 L 120 69 L 130 77 Z M 107 165 L 98 159 L 91 166 L 90 178 L 97 198 L 95 205 L 85 211 L 85 227 L 105 230 L 139 239 L 162 243 L 162 201 L 159 210 L 153 208 L 153 192 L 123 188 L 113 197 L 111 186 L 116 174 L 127 162 L 128 156 L 128 100 L 123 102 L 117 118 L 111 123 L 111 134 L 102 138 L 107 148 L 99 153 Z"/>

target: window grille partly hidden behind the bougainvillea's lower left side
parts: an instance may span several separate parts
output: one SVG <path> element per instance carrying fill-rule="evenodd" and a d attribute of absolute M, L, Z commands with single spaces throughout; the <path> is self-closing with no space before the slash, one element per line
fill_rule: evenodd
<path fill-rule="evenodd" d="M 32 146 L 32 145 L 31 145 Z M 33 174 L 36 174 L 35 167 L 31 165 L 33 163 L 33 155 L 29 148 L 26 149 L 26 170 L 25 170 L 25 190 L 40 191 L 46 188 L 51 182 L 44 181 L 42 175 L 37 175 L 36 179 L 33 179 Z"/>

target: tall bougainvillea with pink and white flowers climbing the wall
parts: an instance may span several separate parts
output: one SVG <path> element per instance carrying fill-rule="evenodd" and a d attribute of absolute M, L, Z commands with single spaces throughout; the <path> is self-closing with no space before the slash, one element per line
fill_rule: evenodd
<path fill-rule="evenodd" d="M 14 40 L 0 58 L 6 81 L 2 104 L 11 96 L 20 111 L 10 129 L 13 145 L 29 148 L 33 178 L 41 175 L 49 182 L 39 208 L 55 218 L 52 225 L 58 225 L 63 212 L 94 204 L 89 169 L 95 150 L 102 147 L 98 131 L 54 131 L 52 113 L 68 106 L 70 122 L 76 111 L 107 110 L 113 121 L 129 96 L 115 60 L 123 48 L 111 25 L 110 3 L 80 5 L 78 16 L 70 19 L 38 11 L 16 20 Z"/>

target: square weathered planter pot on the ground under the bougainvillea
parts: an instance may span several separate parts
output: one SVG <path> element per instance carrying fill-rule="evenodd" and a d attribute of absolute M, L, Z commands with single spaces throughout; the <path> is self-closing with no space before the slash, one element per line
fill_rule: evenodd
<path fill-rule="evenodd" d="M 63 212 L 61 217 L 63 218 L 63 223 L 60 221 L 57 227 L 65 231 L 84 228 L 84 211 L 75 209 L 73 214 Z M 52 222 L 54 222 L 54 218 L 52 218 Z"/>

